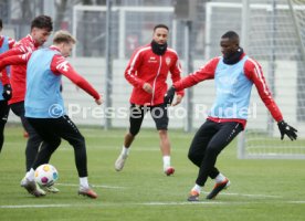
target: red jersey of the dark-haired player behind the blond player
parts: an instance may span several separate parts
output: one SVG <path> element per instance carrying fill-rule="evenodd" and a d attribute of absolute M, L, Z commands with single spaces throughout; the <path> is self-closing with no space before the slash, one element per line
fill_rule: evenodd
<path fill-rule="evenodd" d="M 28 34 L 25 38 L 21 39 L 14 44 L 14 46 L 7 51 L 6 53 L 0 54 L 0 61 L 4 57 L 25 54 L 28 52 L 33 52 L 39 48 L 39 44 L 34 39 Z M 25 96 L 25 78 L 27 78 L 27 64 L 24 65 L 11 65 L 11 77 L 9 78 L 6 73 L 2 73 L 1 82 L 3 85 L 11 84 L 12 87 L 12 98 L 9 101 L 9 104 L 14 104 L 18 102 L 24 101 Z"/>

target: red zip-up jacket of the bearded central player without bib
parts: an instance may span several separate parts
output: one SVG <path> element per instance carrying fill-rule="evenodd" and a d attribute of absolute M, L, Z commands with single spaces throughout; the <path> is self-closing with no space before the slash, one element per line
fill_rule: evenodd
<path fill-rule="evenodd" d="M 162 104 L 167 92 L 168 72 L 173 83 L 181 78 L 176 51 L 168 48 L 164 55 L 157 55 L 150 44 L 137 49 L 125 70 L 125 78 L 134 86 L 130 103 L 148 106 Z M 145 83 L 151 85 L 151 94 L 143 90 Z M 183 96 L 185 92 L 181 90 L 177 94 Z"/>

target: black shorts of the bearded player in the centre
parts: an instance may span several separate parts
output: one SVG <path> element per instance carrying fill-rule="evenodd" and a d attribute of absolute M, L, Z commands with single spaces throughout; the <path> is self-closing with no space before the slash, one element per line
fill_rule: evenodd
<path fill-rule="evenodd" d="M 156 128 L 158 130 L 167 130 L 168 127 L 168 113 L 167 108 L 164 104 L 156 105 L 156 106 L 140 106 L 132 104 L 130 113 L 129 113 L 129 133 L 132 135 L 137 135 L 144 116 L 147 112 L 150 112 L 152 119 L 156 123 Z"/>

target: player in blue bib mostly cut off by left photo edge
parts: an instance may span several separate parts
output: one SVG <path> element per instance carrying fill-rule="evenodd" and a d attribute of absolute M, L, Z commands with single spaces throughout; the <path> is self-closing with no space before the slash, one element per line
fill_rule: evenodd
<path fill-rule="evenodd" d="M 0 19 L 0 32 L 2 31 L 2 29 L 3 29 L 3 23 L 2 23 L 2 20 Z M 15 41 L 13 39 L 9 36 L 0 35 L 0 54 L 12 49 L 14 43 Z M 10 67 L 4 69 L 2 72 L 10 73 Z M 2 91 L 3 91 L 3 86 L 2 84 L 0 84 L 0 92 Z M 0 94 L 0 152 L 4 141 L 4 135 L 3 135 L 4 126 L 8 122 L 9 112 L 10 112 L 10 106 L 8 105 L 8 101 L 7 101 L 8 97 L 6 97 L 6 94 L 3 95 L 2 93 Z"/>

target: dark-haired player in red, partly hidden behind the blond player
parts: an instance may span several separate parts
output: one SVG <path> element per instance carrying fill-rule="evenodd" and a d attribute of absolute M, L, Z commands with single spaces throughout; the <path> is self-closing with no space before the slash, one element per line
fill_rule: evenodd
<path fill-rule="evenodd" d="M 31 22 L 31 32 L 19 42 L 13 49 L 0 54 L 0 61 L 13 55 L 25 54 L 33 52 L 48 41 L 49 35 L 53 30 L 52 19 L 48 15 L 39 15 Z M 8 63 L 10 64 L 10 63 Z M 27 65 L 11 65 L 11 77 L 2 73 L 1 82 L 3 84 L 3 96 L 9 101 L 12 112 L 20 117 L 24 130 L 28 131 L 29 138 L 25 147 L 25 166 L 27 171 L 30 170 L 36 152 L 42 144 L 42 139 L 36 134 L 34 128 L 24 117 L 24 95 L 25 95 L 25 77 Z M 21 181 L 22 182 L 22 181 Z M 48 191 L 57 192 L 55 187 L 45 188 Z"/>

